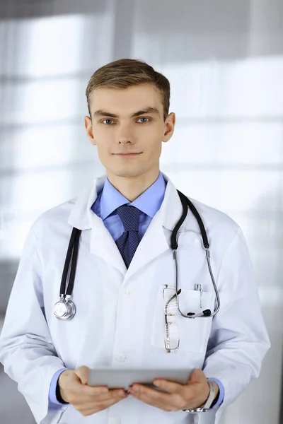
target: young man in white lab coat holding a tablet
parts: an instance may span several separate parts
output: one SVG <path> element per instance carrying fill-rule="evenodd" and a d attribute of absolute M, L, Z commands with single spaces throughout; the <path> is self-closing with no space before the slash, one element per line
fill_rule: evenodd
<path fill-rule="evenodd" d="M 121 59 L 93 74 L 86 96 L 86 134 L 106 177 L 33 224 L 8 303 L 0 360 L 37 423 L 218 422 L 224 406 L 258 377 L 270 347 L 241 229 L 192 201 L 209 236 L 220 310 L 213 317 L 167 316 L 164 289 L 177 305 L 171 235 L 183 211 L 159 170 L 161 144 L 175 126 L 169 82 L 142 61 Z M 76 313 L 64 321 L 54 304 L 72 228 L 81 230 L 71 293 Z M 180 310 L 213 312 L 214 286 L 190 209 L 177 237 Z M 175 341 L 165 334 L 164 317 L 177 331 Z M 101 365 L 195 371 L 186 384 L 157 379 L 156 389 L 133 384 L 125 392 L 88 386 L 89 368 Z M 187 412 L 204 405 L 211 412 Z"/>

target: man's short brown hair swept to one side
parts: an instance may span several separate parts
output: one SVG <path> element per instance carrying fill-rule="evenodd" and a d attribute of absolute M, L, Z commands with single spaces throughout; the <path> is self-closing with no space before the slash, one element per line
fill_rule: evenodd
<path fill-rule="evenodd" d="M 165 120 L 170 106 L 170 83 L 162 73 L 154 71 L 152 66 L 137 59 L 112 61 L 93 73 L 86 87 L 86 100 L 90 117 L 90 95 L 95 88 L 127 88 L 144 83 L 153 83 L 161 94 Z"/>

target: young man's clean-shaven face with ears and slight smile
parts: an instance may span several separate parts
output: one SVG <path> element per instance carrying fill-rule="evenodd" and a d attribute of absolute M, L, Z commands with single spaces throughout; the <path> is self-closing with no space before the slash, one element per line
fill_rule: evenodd
<path fill-rule="evenodd" d="M 161 95 L 153 84 L 98 88 L 91 93 L 91 119 L 86 117 L 85 125 L 108 176 L 157 177 L 161 143 L 171 139 L 175 114 L 164 122 Z"/>

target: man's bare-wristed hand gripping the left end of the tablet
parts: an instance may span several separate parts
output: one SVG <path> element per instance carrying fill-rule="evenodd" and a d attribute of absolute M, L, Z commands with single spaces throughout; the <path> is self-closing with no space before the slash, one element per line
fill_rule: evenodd
<path fill-rule="evenodd" d="M 58 379 L 63 401 L 72 404 L 83 416 L 89 416 L 125 399 L 124 389 L 88 386 L 88 367 L 63 371 Z"/>

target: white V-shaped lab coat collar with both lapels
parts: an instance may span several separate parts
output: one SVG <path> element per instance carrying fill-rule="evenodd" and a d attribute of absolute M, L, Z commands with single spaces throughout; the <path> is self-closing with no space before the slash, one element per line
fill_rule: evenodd
<path fill-rule="evenodd" d="M 151 220 L 149 228 L 147 228 L 144 237 L 142 237 L 137 247 L 137 251 L 129 265 L 125 266 L 125 262 L 117 248 L 115 241 L 112 239 L 110 232 L 105 228 L 103 220 L 96 213 L 93 213 L 91 206 L 96 201 L 101 185 L 104 184 L 106 176 L 95 180 L 91 189 L 86 189 L 76 200 L 74 207 L 69 216 L 68 223 L 80 230 L 91 228 L 91 254 L 100 257 L 106 264 L 115 266 L 124 276 L 124 283 L 146 264 L 149 264 L 154 258 L 163 252 L 171 249 L 171 245 L 166 238 L 164 228 L 173 230 L 176 223 L 182 215 L 182 204 L 173 183 L 166 175 L 167 181 L 166 192 L 164 195 L 161 208 L 156 212 Z M 179 231 L 185 230 L 186 221 L 181 225 Z"/>

